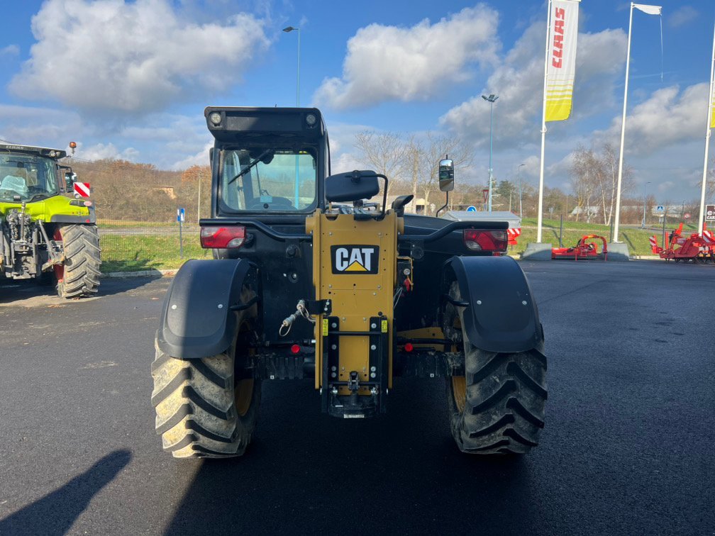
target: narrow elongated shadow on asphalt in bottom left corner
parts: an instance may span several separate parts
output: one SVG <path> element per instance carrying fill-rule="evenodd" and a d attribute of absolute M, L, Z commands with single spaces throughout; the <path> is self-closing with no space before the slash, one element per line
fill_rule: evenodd
<path fill-rule="evenodd" d="M 0 534 L 66 534 L 92 497 L 112 482 L 131 459 L 128 450 L 109 453 L 58 490 L 0 520 Z"/>

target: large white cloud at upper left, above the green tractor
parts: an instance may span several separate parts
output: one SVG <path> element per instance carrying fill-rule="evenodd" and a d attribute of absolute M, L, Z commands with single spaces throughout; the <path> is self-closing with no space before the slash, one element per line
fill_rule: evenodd
<path fill-rule="evenodd" d="M 254 16 L 198 25 L 168 0 L 48 0 L 32 31 L 11 91 L 82 111 L 156 111 L 197 89 L 221 91 L 269 44 Z"/>

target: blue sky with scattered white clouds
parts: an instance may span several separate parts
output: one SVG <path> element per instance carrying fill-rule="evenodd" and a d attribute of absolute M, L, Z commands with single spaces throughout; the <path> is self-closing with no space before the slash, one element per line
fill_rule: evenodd
<path fill-rule="evenodd" d="M 207 164 L 207 105 L 317 106 L 333 172 L 364 167 L 357 132 L 455 136 L 460 181 L 536 186 L 546 1 L 3 0 L 0 139 L 160 169 Z M 652 2 L 656 4 L 656 2 Z M 633 12 L 626 162 L 634 196 L 700 197 L 715 2 Z M 630 4 L 581 2 L 573 114 L 548 123 L 548 187 L 578 144 L 618 146 Z M 661 24 L 663 54 L 661 56 Z M 300 28 L 300 87 L 297 87 Z M 661 79 L 662 73 L 662 79 Z M 300 97 L 297 89 L 300 91 Z M 647 184 L 649 183 L 649 184 Z"/>

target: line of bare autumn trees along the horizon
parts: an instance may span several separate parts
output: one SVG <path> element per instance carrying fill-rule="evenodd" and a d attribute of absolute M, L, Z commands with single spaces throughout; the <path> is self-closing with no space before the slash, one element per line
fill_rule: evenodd
<path fill-rule="evenodd" d="M 465 171 L 473 166 L 471 147 L 455 137 L 428 132 L 423 136 L 400 135 L 393 132 L 362 131 L 355 135 L 354 146 L 365 168 L 385 174 L 389 179 L 388 195 L 413 194 L 424 199 L 425 212 L 432 214 L 445 199 L 438 188 L 438 164 L 448 155 L 456 170 L 455 190 L 450 193 L 451 208 L 474 205 L 483 209 L 483 190 L 488 178 L 467 182 Z M 211 172 L 208 166 L 192 166 L 183 171 L 157 169 L 152 164 L 125 160 L 102 159 L 92 162 L 66 159 L 78 179 L 92 184 L 92 198 L 100 220 L 132 220 L 174 222 L 176 210 L 183 207 L 187 222 L 197 222 L 210 215 Z M 618 182 L 618 152 L 611 144 L 600 147 L 578 146 L 571 154 L 568 192 L 558 187 L 544 187 L 545 218 L 567 219 L 586 223 L 611 224 L 616 209 Z M 547 178 L 548 181 L 548 178 Z M 715 197 L 715 159 L 711 163 L 707 199 Z M 699 211 L 699 199 L 684 203 L 669 199 L 657 201 L 678 207 L 680 216 Z M 654 224 L 652 211 L 656 206 L 653 194 L 643 192 L 633 179 L 633 170 L 623 167 L 621 184 L 621 221 L 641 222 L 646 208 L 646 223 Z M 408 207 L 408 210 L 414 207 Z M 520 212 L 519 184 L 516 177 L 495 179 L 493 209 Z M 536 184 L 521 180 L 521 212 L 523 217 L 536 217 L 538 190 Z M 672 209 L 671 209 L 672 211 Z"/>

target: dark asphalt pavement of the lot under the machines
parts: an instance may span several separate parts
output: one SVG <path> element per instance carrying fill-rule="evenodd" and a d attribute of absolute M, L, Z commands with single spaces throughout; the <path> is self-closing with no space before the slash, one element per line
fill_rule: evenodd
<path fill-rule="evenodd" d="M 546 428 L 497 459 L 457 450 L 443 381 L 396 379 L 364 421 L 265 382 L 245 457 L 174 460 L 149 402 L 169 279 L 0 284 L 0 534 L 715 534 L 715 266 L 521 266 Z"/>

